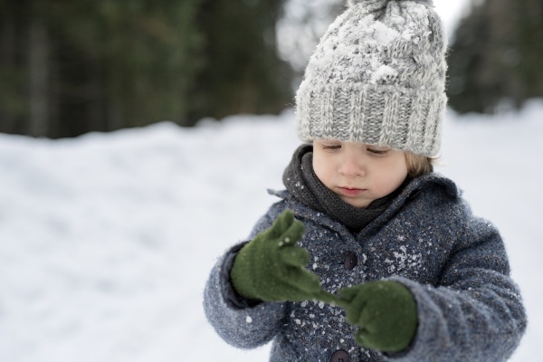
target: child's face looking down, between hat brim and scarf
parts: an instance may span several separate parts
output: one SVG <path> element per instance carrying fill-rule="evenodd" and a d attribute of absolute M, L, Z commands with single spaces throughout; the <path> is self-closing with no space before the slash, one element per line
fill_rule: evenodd
<path fill-rule="evenodd" d="M 320 182 L 358 208 L 392 193 L 407 176 L 405 152 L 327 139 L 313 142 L 313 169 Z"/>

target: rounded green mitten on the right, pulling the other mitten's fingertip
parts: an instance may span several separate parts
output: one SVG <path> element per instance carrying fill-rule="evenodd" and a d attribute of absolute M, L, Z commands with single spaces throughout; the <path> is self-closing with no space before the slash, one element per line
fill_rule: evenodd
<path fill-rule="evenodd" d="M 417 328 L 413 295 L 396 281 L 371 281 L 338 291 L 347 320 L 358 326 L 357 344 L 384 352 L 409 347 Z"/>

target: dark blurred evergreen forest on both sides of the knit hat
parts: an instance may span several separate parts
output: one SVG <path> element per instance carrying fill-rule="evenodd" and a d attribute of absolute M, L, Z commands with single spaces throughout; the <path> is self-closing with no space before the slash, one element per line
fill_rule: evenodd
<path fill-rule="evenodd" d="M 0 132 L 277 114 L 303 70 L 278 51 L 289 1 L 0 0 Z M 450 106 L 493 113 L 543 97 L 542 55 L 543 1 L 472 0 L 450 43 Z"/>

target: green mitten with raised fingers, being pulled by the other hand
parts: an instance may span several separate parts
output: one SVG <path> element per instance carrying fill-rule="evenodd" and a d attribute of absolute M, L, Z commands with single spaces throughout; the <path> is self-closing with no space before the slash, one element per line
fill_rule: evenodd
<path fill-rule="evenodd" d="M 319 277 L 305 270 L 309 253 L 296 243 L 303 224 L 287 210 L 267 230 L 243 246 L 233 261 L 233 288 L 243 297 L 265 301 L 335 300 Z"/>

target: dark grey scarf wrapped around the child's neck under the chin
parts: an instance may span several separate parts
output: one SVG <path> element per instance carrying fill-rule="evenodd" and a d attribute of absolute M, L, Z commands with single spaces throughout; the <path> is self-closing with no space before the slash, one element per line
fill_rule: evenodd
<path fill-rule="evenodd" d="M 367 208 L 360 209 L 349 205 L 320 182 L 313 171 L 313 146 L 304 144 L 296 149 L 291 163 L 283 174 L 283 184 L 300 202 L 311 208 L 328 214 L 348 229 L 357 233 L 376 217 L 382 214 L 392 203 L 396 195 L 407 184 L 398 187 L 395 192 L 372 202 Z"/>

